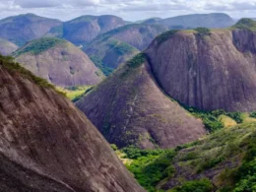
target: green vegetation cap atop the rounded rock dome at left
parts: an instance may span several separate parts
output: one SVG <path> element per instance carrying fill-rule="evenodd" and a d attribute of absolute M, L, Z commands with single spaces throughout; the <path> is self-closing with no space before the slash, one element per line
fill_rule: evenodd
<path fill-rule="evenodd" d="M 14 53 L 15 56 L 19 56 L 24 53 L 32 53 L 37 55 L 59 43 L 64 43 L 66 40 L 56 37 L 42 37 L 39 39 L 32 40 Z"/>

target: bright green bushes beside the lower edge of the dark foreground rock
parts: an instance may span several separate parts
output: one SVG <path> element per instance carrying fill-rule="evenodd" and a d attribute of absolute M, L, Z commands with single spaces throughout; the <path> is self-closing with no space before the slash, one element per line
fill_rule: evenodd
<path fill-rule="evenodd" d="M 126 165 L 127 168 L 149 192 L 156 191 L 160 180 L 174 173 L 174 167 L 170 164 L 176 154 L 173 150 L 139 150 L 131 147 L 122 152 L 126 154 L 124 158 L 133 160 Z"/>

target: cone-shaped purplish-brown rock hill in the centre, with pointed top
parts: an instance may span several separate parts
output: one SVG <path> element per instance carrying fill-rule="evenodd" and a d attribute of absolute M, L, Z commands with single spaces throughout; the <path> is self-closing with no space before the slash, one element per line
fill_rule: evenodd
<path fill-rule="evenodd" d="M 135 63 L 141 61 L 141 63 Z M 139 64 L 139 65 L 138 65 Z M 171 148 L 206 133 L 197 120 L 160 90 L 147 61 L 137 55 L 76 105 L 111 144 Z"/>

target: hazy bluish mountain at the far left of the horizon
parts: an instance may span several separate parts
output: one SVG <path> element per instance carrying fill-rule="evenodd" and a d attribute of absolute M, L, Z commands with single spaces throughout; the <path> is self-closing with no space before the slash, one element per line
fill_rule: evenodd
<path fill-rule="evenodd" d="M 9 17 L 0 21 L 0 37 L 8 39 L 18 45 L 39 38 L 50 31 L 51 28 L 60 26 L 58 20 L 39 17 L 33 14 Z"/>

